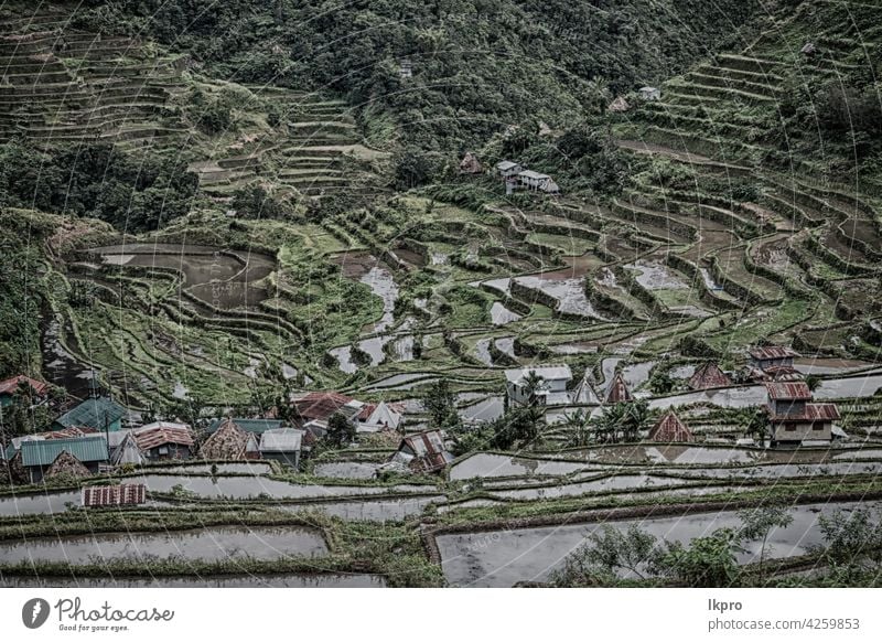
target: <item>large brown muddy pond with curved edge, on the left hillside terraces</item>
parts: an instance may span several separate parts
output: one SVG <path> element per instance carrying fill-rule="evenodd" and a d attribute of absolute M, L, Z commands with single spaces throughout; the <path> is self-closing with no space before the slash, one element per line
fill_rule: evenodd
<path fill-rule="evenodd" d="M 222 310 L 254 307 L 267 298 L 254 283 L 266 278 L 276 261 L 248 250 L 222 253 L 219 248 L 178 244 L 131 244 L 89 250 L 107 265 L 171 268 L 183 275 L 183 288 L 202 302 Z"/>

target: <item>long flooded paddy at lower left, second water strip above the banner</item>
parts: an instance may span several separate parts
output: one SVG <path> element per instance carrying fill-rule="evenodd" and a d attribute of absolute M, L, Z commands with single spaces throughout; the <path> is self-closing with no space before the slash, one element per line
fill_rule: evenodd
<path fill-rule="evenodd" d="M 96 533 L 75 537 L 35 537 L 28 542 L 0 542 L 0 559 L 19 561 L 112 561 L 181 557 L 183 559 L 278 559 L 327 553 L 318 531 L 301 527 L 212 526 L 161 533 Z"/>

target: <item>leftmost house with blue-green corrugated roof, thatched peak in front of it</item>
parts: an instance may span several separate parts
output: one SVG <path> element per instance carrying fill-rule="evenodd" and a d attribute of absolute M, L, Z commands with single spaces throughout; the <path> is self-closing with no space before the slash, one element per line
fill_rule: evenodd
<path fill-rule="evenodd" d="M 86 470 L 86 474 L 97 474 L 100 467 L 110 461 L 104 435 L 68 439 L 29 439 L 21 442 L 20 449 L 21 463 L 31 483 L 39 483 L 44 477 L 54 473 L 55 471 L 51 469 L 56 463 L 58 463 L 56 469 L 62 466 L 75 467 L 78 463 Z M 66 453 L 66 457 L 62 457 L 63 453 Z M 82 473 L 82 470 L 72 468 L 71 472 Z"/>

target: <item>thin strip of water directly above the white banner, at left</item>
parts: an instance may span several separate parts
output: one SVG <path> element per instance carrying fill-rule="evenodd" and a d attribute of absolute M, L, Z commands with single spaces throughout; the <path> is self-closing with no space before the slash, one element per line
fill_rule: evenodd
<path fill-rule="evenodd" d="M 15 577 L 0 574 L 8 588 L 385 588 L 380 575 L 224 575 L 207 577 L 80 578 Z"/>

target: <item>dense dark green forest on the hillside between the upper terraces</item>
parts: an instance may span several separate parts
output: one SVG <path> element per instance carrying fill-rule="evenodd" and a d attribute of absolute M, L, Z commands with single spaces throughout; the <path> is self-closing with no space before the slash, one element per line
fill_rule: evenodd
<path fill-rule="evenodd" d="M 736 38 L 756 0 L 92 2 L 76 24 L 149 33 L 216 76 L 331 88 L 369 135 L 437 149 L 527 118 L 569 122 Z M 412 64 L 405 78 L 400 63 Z M 392 115 L 389 119 L 388 115 Z"/>

